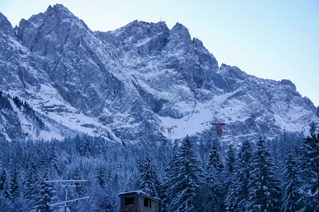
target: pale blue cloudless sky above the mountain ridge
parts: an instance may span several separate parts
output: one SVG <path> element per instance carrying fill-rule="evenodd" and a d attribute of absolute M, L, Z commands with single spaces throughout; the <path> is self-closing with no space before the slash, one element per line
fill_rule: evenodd
<path fill-rule="evenodd" d="M 75 1 L 0 0 L 11 22 L 63 4 L 93 30 L 115 30 L 133 20 L 167 26 L 179 22 L 219 62 L 248 74 L 289 79 L 303 96 L 319 105 L 319 1 Z"/>

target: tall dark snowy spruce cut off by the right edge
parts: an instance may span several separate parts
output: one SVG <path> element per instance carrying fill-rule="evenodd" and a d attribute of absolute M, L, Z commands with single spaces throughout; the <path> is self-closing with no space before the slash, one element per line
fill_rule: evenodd
<path fill-rule="evenodd" d="M 315 124 L 310 124 L 310 136 L 304 139 L 300 157 L 301 211 L 319 211 L 319 133 L 315 134 Z"/>

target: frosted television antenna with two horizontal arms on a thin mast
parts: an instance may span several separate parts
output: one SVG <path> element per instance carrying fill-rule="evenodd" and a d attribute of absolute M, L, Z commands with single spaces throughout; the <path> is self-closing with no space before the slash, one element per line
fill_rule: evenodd
<path fill-rule="evenodd" d="M 78 200 L 88 199 L 88 198 L 90 198 L 90 196 L 86 196 L 86 197 L 82 197 L 82 198 L 78 198 L 78 199 L 74 199 L 74 200 L 67 200 L 68 187 L 75 188 L 75 187 L 78 187 L 77 185 L 75 185 L 75 183 L 86 182 L 86 181 L 87 180 L 45 180 L 44 181 L 45 183 L 59 183 L 59 186 L 65 187 L 65 201 L 54 203 L 54 204 L 51 204 L 50 206 L 51 207 L 61 207 L 62 204 L 64 204 L 62 206 L 63 208 L 60 208 L 59 212 L 70 212 L 70 209 L 67 207 L 68 202 L 75 202 Z"/>

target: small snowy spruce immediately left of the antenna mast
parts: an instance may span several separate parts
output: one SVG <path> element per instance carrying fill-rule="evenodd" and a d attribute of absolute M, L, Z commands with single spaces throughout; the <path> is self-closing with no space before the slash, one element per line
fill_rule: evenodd
<path fill-rule="evenodd" d="M 33 211 L 46 211 L 51 212 L 53 209 L 50 207 L 50 202 L 53 197 L 54 191 L 49 183 L 44 182 L 45 180 L 49 180 L 49 172 L 45 171 L 43 177 L 41 179 L 39 190 L 36 199 L 36 206 L 34 206 Z"/>

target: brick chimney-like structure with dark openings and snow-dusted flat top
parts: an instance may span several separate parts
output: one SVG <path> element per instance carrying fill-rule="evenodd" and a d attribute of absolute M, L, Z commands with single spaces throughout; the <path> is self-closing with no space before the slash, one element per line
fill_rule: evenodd
<path fill-rule="evenodd" d="M 142 191 L 120 193 L 121 212 L 158 212 L 159 198 L 152 197 Z"/>

